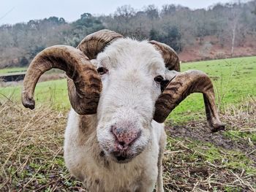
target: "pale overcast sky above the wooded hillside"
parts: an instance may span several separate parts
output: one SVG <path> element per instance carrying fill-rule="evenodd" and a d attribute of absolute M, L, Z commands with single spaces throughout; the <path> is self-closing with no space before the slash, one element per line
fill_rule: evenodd
<path fill-rule="evenodd" d="M 1 0 L 0 25 L 27 22 L 32 19 L 56 16 L 67 21 L 80 18 L 84 12 L 94 15 L 108 15 L 116 11 L 116 7 L 129 4 L 141 9 L 148 4 L 161 8 L 163 4 L 181 4 L 191 9 L 207 8 L 218 2 L 227 3 L 234 0 Z"/>

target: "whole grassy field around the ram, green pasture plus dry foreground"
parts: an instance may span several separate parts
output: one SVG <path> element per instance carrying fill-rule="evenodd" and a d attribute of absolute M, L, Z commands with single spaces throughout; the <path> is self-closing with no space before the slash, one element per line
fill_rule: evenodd
<path fill-rule="evenodd" d="M 166 121 L 166 191 L 256 191 L 256 57 L 181 64 L 214 82 L 226 130 L 206 128 L 194 93 Z M 82 191 L 62 158 L 69 110 L 66 80 L 40 82 L 36 110 L 20 105 L 21 86 L 0 88 L 0 191 Z"/>

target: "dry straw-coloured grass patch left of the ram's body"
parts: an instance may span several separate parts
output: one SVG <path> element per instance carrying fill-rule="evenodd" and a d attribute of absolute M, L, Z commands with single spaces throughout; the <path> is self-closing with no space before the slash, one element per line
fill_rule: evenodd
<path fill-rule="evenodd" d="M 78 191 L 63 161 L 67 113 L 0 106 L 0 191 Z"/>

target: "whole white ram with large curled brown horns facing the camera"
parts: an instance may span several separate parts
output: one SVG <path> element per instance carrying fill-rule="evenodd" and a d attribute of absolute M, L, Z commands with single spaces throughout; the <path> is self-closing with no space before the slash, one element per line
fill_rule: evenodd
<path fill-rule="evenodd" d="M 163 191 L 163 122 L 190 93 L 203 93 L 208 126 L 223 129 L 209 77 L 180 71 L 175 51 L 109 30 L 85 37 L 77 48 L 42 50 L 24 79 L 22 102 L 34 109 L 34 88 L 52 68 L 67 74 L 72 110 L 64 140 L 69 171 L 89 191 Z"/>

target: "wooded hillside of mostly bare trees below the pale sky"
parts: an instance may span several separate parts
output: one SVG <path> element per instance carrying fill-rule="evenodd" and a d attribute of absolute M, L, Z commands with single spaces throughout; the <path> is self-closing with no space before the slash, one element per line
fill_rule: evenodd
<path fill-rule="evenodd" d="M 141 10 L 124 5 L 110 15 L 84 13 L 72 23 L 64 18 L 50 17 L 2 25 L 0 68 L 26 66 L 39 51 L 51 45 L 75 47 L 87 34 L 103 28 L 126 37 L 164 42 L 178 53 L 212 36 L 218 39 L 221 47 L 230 47 L 232 56 L 236 46 L 243 45 L 246 38 L 256 39 L 256 0 L 195 10 L 174 4 L 165 4 L 160 9 L 148 5 Z"/>

